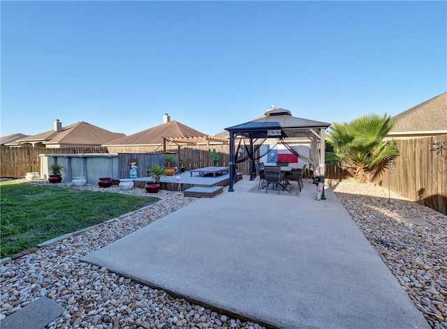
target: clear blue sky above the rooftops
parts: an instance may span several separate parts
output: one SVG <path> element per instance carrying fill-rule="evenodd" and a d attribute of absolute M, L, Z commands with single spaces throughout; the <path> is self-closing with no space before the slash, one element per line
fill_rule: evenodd
<path fill-rule="evenodd" d="M 1 1 L 1 136 L 395 115 L 447 91 L 446 21 L 446 1 Z"/>

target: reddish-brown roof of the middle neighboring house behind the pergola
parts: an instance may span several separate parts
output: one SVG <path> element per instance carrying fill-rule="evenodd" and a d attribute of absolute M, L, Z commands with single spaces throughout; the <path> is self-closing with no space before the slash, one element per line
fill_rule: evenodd
<path fill-rule="evenodd" d="M 168 121 L 161 125 L 136 132 L 133 135 L 119 138 L 103 144 L 104 146 L 124 146 L 124 145 L 161 145 L 163 137 L 207 137 L 208 135 L 195 130 L 178 121 Z"/>

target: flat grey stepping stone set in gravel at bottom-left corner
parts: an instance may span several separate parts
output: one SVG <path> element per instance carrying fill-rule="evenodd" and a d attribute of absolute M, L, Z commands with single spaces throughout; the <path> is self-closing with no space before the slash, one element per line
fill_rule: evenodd
<path fill-rule="evenodd" d="M 64 313 L 64 307 L 41 297 L 1 320 L 2 329 L 41 329 Z"/>

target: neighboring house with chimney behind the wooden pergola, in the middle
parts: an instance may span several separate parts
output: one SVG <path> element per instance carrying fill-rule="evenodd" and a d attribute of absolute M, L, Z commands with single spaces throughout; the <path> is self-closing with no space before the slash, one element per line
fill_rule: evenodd
<path fill-rule="evenodd" d="M 103 144 L 110 153 L 145 153 L 163 151 L 163 144 L 224 144 L 227 139 L 209 136 L 163 115 L 163 123 Z"/>

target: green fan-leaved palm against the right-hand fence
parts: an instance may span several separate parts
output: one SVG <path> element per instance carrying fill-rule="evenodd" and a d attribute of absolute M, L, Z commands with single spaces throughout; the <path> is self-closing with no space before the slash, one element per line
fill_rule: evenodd
<path fill-rule="evenodd" d="M 383 162 L 399 154 L 393 139 L 389 147 L 383 140 L 394 125 L 387 114 L 369 114 L 349 123 L 332 123 L 326 136 L 325 158 L 360 182 L 369 182 Z"/>

